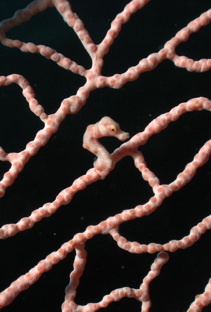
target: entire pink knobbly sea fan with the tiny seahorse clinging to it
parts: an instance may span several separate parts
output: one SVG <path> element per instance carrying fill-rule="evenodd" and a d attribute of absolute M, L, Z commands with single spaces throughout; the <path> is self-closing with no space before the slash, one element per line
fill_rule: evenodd
<path fill-rule="evenodd" d="M 34 91 L 28 80 L 18 74 L 0 77 L 0 86 L 8 86 L 16 83 L 23 90 L 23 96 L 26 98 L 29 108 L 33 114 L 38 116 L 44 123 L 43 129 L 40 129 L 33 141 L 26 145 L 26 148 L 20 153 L 7 153 L 0 148 L 0 160 L 9 161 L 11 168 L 4 174 L 0 182 L 0 197 L 5 193 L 6 188 L 11 185 L 18 176 L 28 160 L 38 152 L 41 146 L 47 144 L 51 135 L 55 133 L 60 123 L 67 114 L 77 113 L 85 104 L 90 91 L 104 86 L 114 89 L 121 88 L 126 82 L 138 78 L 145 71 L 151 71 L 164 59 L 169 59 L 178 67 L 186 68 L 188 71 L 204 72 L 211 68 L 211 59 L 201 59 L 194 61 L 186 56 L 178 56 L 175 48 L 179 43 L 187 41 L 190 34 L 197 32 L 202 26 L 207 25 L 211 20 L 211 10 L 204 12 L 200 17 L 190 22 L 187 27 L 181 29 L 175 37 L 167 41 L 160 51 L 149 54 L 146 58 L 139 61 L 138 65 L 129 67 L 122 74 L 114 74 L 113 76 L 102 76 L 101 69 L 103 66 L 103 56 L 108 52 L 109 47 L 114 39 L 118 36 L 123 23 L 128 22 L 131 15 L 138 9 L 142 8 L 148 0 L 133 0 L 128 3 L 124 10 L 119 13 L 108 30 L 105 38 L 99 45 L 96 45 L 88 31 L 85 29 L 82 20 L 73 12 L 71 5 L 67 0 L 36 0 L 29 4 L 25 9 L 17 11 L 12 18 L 4 20 L 0 24 L 0 41 L 8 47 L 19 48 L 23 52 L 40 53 L 48 59 L 55 61 L 64 69 L 70 70 L 75 74 L 79 74 L 86 78 L 86 83 L 80 87 L 75 95 L 71 95 L 63 99 L 58 110 L 47 115 L 43 106 L 35 99 Z M 13 27 L 20 25 L 24 21 L 28 21 L 33 15 L 42 12 L 48 7 L 56 7 L 62 15 L 68 26 L 72 27 L 76 32 L 79 40 L 92 59 L 92 67 L 85 69 L 76 62 L 58 53 L 54 49 L 44 46 L 35 45 L 32 42 L 22 42 L 6 37 L 6 32 Z M 24 231 L 33 227 L 43 217 L 49 217 L 57 211 L 57 209 L 68 204 L 73 196 L 86 188 L 89 184 L 96 182 L 99 178 L 105 178 L 108 173 L 113 170 L 115 164 L 123 157 L 130 155 L 135 167 L 138 168 L 143 179 L 148 182 L 152 188 L 153 196 L 144 205 L 138 205 L 135 208 L 124 210 L 123 212 L 109 217 L 95 226 L 88 226 L 83 233 L 76 234 L 72 240 L 64 243 L 57 251 L 48 255 L 44 260 L 40 261 L 25 275 L 20 276 L 7 289 L 0 293 L 0 309 L 13 301 L 13 299 L 23 290 L 36 282 L 39 277 L 51 267 L 63 260 L 69 252 L 76 250 L 76 257 L 73 263 L 73 271 L 70 274 L 70 283 L 66 288 L 65 301 L 62 305 L 62 311 L 72 312 L 94 312 L 102 307 L 107 307 L 111 302 L 121 300 L 124 297 L 135 298 L 142 302 L 142 312 L 148 312 L 151 306 L 149 298 L 149 283 L 158 276 L 161 267 L 168 261 L 168 255 L 165 251 L 176 251 L 191 246 L 198 241 L 200 236 L 208 229 L 211 229 L 211 216 L 208 216 L 190 230 L 188 236 L 184 236 L 180 240 L 171 240 L 165 244 L 150 243 L 140 244 L 136 241 L 129 241 L 119 233 L 119 225 L 123 222 L 140 218 L 154 212 L 173 192 L 178 191 L 186 183 L 188 183 L 196 173 L 196 170 L 208 161 L 211 154 L 211 139 L 208 140 L 195 155 L 193 161 L 188 163 L 184 170 L 178 174 L 177 178 L 167 184 L 160 184 L 159 178 L 147 167 L 143 154 L 138 151 L 138 147 L 146 144 L 148 139 L 156 133 L 165 129 L 172 121 L 177 120 L 182 114 L 193 110 L 211 110 L 211 101 L 204 97 L 193 98 L 186 103 L 174 107 L 169 112 L 158 116 L 152 120 L 143 132 L 134 135 L 128 142 L 122 144 L 112 154 L 98 142 L 98 138 L 103 136 L 116 136 L 118 139 L 127 139 L 128 133 L 123 132 L 119 125 L 110 117 L 103 117 L 97 124 L 89 125 L 84 134 L 83 147 L 89 149 L 98 159 L 87 173 L 77 178 L 73 184 L 62 190 L 55 200 L 46 203 L 42 207 L 34 210 L 29 217 L 22 218 L 16 224 L 6 224 L 0 229 L 0 238 L 5 239 L 13 236 L 20 231 Z M 151 266 L 151 271 L 143 279 L 139 289 L 130 287 L 122 287 L 111 291 L 109 295 L 105 295 L 98 303 L 88 303 L 85 306 L 77 305 L 74 302 L 76 290 L 79 284 L 79 278 L 83 274 L 86 263 L 85 242 L 97 234 L 110 234 L 118 246 L 125 251 L 141 254 L 144 252 L 158 253 L 157 258 Z M 195 301 L 190 305 L 188 312 L 199 312 L 204 306 L 211 303 L 210 280 L 203 294 L 198 295 Z"/>

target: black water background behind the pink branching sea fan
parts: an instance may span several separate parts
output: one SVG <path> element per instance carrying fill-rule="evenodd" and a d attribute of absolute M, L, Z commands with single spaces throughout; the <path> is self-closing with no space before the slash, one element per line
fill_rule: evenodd
<path fill-rule="evenodd" d="M 0 20 L 12 17 L 29 0 L 0 1 Z M 111 21 L 121 12 L 125 0 L 73 0 L 77 12 L 93 41 L 99 43 Z M 124 24 L 119 36 L 104 57 L 102 74 L 122 73 L 148 54 L 157 52 L 188 22 L 208 10 L 210 1 L 150 1 Z M 180 44 L 176 51 L 195 60 L 210 58 L 211 25 L 202 27 Z M 32 17 L 8 31 L 8 37 L 50 46 L 90 68 L 91 60 L 72 29 L 55 8 Z M 33 87 L 35 97 L 47 114 L 54 113 L 63 98 L 74 95 L 85 79 L 59 67 L 39 54 L 23 53 L 0 45 L 0 75 L 18 73 Z M 22 217 L 52 202 L 57 194 L 93 167 L 93 155 L 82 147 L 88 124 L 103 116 L 117 121 L 131 136 L 143 131 L 158 115 L 190 98 L 211 99 L 211 71 L 188 72 L 164 60 L 153 71 L 143 73 L 120 90 L 103 89 L 90 93 L 87 103 L 76 115 L 68 115 L 58 132 L 53 134 L 25 165 L 13 185 L 1 198 L 1 226 L 16 223 Z M 153 135 L 139 148 L 148 168 L 161 183 L 172 182 L 185 165 L 193 160 L 202 145 L 210 139 L 211 115 L 208 111 L 186 113 L 161 133 Z M 43 123 L 28 107 L 17 85 L 0 88 L 0 145 L 6 152 L 20 152 L 33 140 Z M 120 145 L 114 138 L 102 139 L 112 152 Z M 197 170 L 192 181 L 165 199 L 150 216 L 125 222 L 120 233 L 140 243 L 166 243 L 181 239 L 190 229 L 210 214 L 210 159 Z M 0 163 L 1 178 L 10 164 Z M 132 158 L 116 164 L 108 177 L 78 192 L 73 200 L 49 218 L 44 218 L 25 232 L 0 242 L 0 290 L 4 290 L 38 261 L 57 250 L 75 233 L 88 225 L 98 224 L 124 209 L 144 204 L 152 189 L 135 168 Z M 150 283 L 150 312 L 184 312 L 203 293 L 211 277 L 210 231 L 193 246 L 169 253 L 170 259 L 160 275 Z M 77 289 L 77 304 L 98 302 L 112 290 L 129 286 L 138 288 L 150 270 L 156 254 L 130 254 L 121 250 L 109 235 L 98 235 L 86 242 L 88 252 L 85 271 Z M 28 290 L 23 291 L 3 312 L 61 311 L 64 289 L 69 283 L 75 253 L 43 274 Z M 210 305 L 203 312 L 210 311 Z M 141 303 L 124 298 L 102 312 L 138 312 Z M 100 310 L 100 311 L 101 311 Z"/>

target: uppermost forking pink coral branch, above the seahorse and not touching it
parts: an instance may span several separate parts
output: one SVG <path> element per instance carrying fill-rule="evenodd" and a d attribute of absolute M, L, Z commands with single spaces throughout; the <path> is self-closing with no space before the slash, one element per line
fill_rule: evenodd
<path fill-rule="evenodd" d="M 123 12 L 119 13 L 116 19 L 114 19 L 112 23 L 112 28 L 108 32 L 107 37 L 110 36 L 112 40 L 118 35 L 118 32 L 113 31 L 113 27 L 117 27 L 118 31 L 120 30 L 120 26 L 123 22 L 127 22 L 130 15 L 137 11 L 139 8 L 143 7 L 143 5 L 148 2 L 144 0 L 133 0 L 130 2 Z M 34 45 L 31 42 L 24 43 L 18 40 L 8 39 L 5 35 L 5 32 L 12 27 L 21 24 L 23 21 L 29 20 L 34 14 L 45 10 L 48 6 L 56 5 L 58 11 L 63 15 L 63 17 L 67 20 L 68 25 L 73 27 L 77 32 L 78 37 L 83 42 L 85 48 L 87 49 L 89 55 L 93 60 L 93 66 L 89 70 L 85 70 L 83 66 L 76 64 L 71 61 L 67 57 L 64 57 L 61 53 L 56 52 L 50 47 L 46 47 L 43 45 Z M 137 66 L 133 66 L 128 68 L 128 70 L 123 74 L 115 74 L 112 77 L 104 77 L 101 75 L 101 68 L 103 65 L 103 55 L 108 50 L 108 47 L 113 42 L 112 40 L 106 39 L 106 42 L 102 41 L 102 43 L 98 46 L 97 50 L 92 40 L 90 39 L 88 32 L 83 26 L 83 23 L 78 18 L 78 16 L 73 13 L 71 6 L 68 1 L 56 1 L 53 2 L 50 0 L 36 0 L 29 4 L 25 9 L 19 10 L 14 14 L 12 18 L 4 20 L 0 24 L 0 40 L 1 42 L 9 47 L 17 47 L 21 49 L 23 52 L 32 52 L 32 53 L 40 53 L 43 56 L 52 59 L 59 66 L 72 71 L 73 73 L 77 73 L 81 76 L 85 76 L 87 79 L 86 84 L 79 88 L 76 95 L 70 96 L 67 99 L 64 99 L 55 114 L 50 116 L 44 114 L 42 117 L 42 121 L 45 122 L 45 127 L 38 131 L 34 141 L 29 142 L 26 146 L 26 149 L 19 154 L 16 154 L 17 161 L 15 162 L 17 165 L 16 168 L 11 168 L 7 173 L 5 178 L 0 182 L 0 196 L 3 196 L 5 193 L 5 189 L 11 185 L 14 179 L 17 177 L 18 173 L 22 171 L 25 163 L 28 161 L 29 157 L 36 154 L 41 146 L 47 143 L 48 139 L 51 137 L 52 133 L 57 131 L 59 124 L 65 118 L 67 114 L 75 114 L 80 108 L 85 104 L 86 99 L 91 90 L 96 88 L 102 88 L 104 86 L 109 86 L 111 88 L 121 88 L 126 82 L 132 81 L 138 78 L 140 73 L 144 71 L 149 71 L 155 68 L 164 58 L 172 59 L 175 62 L 175 65 L 180 67 L 185 67 L 189 71 L 207 71 L 211 68 L 210 59 L 202 59 L 200 61 L 189 61 L 189 59 L 184 56 L 177 56 L 175 53 L 175 47 L 182 41 L 188 39 L 189 35 L 192 32 L 197 31 L 200 27 L 207 25 L 211 19 L 211 10 L 203 13 L 200 17 L 196 18 L 192 22 L 188 24 L 187 27 L 183 28 L 180 32 L 177 33 L 175 37 L 173 37 L 170 41 L 165 44 L 164 49 L 160 50 L 158 53 L 150 54 L 147 58 L 142 59 Z M 193 27 L 194 25 L 194 27 Z M 112 42 L 111 42 L 112 41 Z M 102 51 L 102 46 L 104 46 L 104 51 Z M 182 58 L 182 61 L 181 61 Z M 177 61 L 180 60 L 180 61 Z M 1 77 L 0 85 L 8 85 L 10 83 L 17 83 L 21 86 L 22 81 L 24 81 L 26 87 L 24 89 L 23 95 L 26 99 L 31 100 L 31 105 L 36 106 L 36 110 L 39 110 L 37 113 L 33 111 L 36 115 L 43 114 L 44 110 L 41 105 L 38 105 L 38 102 L 34 99 L 34 93 L 27 80 L 24 80 L 20 75 L 10 75 L 8 77 Z M 3 155 L 4 152 L 2 151 Z M 15 154 L 13 153 L 13 158 Z M 19 160 L 21 159 L 21 161 Z M 20 163 L 21 162 L 21 163 Z"/>

